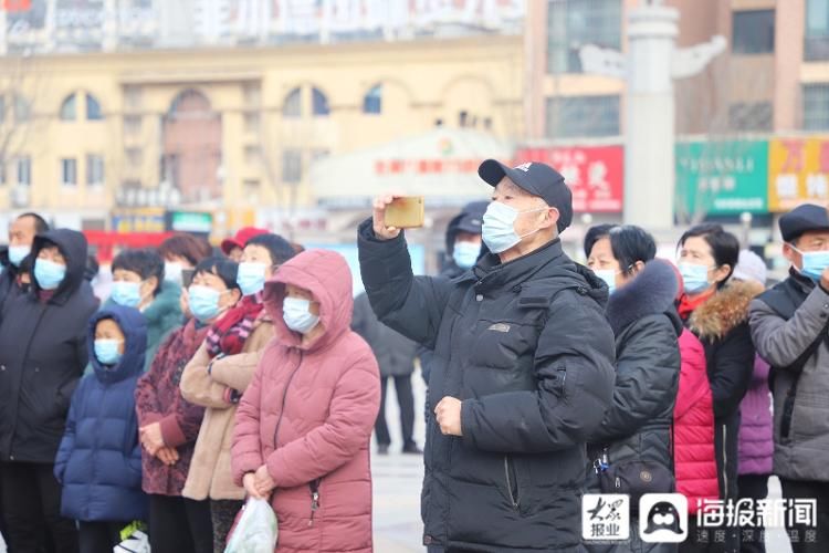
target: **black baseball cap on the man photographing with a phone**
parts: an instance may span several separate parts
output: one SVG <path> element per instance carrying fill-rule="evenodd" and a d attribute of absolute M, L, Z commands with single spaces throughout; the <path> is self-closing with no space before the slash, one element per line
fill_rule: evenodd
<path fill-rule="evenodd" d="M 487 159 L 478 168 L 478 175 L 490 186 L 497 186 L 504 177 L 515 186 L 538 196 L 549 207 L 558 209 L 558 232 L 573 222 L 573 194 L 564 177 L 553 167 L 541 163 L 527 163 L 517 167 L 507 167 L 495 159 Z"/>

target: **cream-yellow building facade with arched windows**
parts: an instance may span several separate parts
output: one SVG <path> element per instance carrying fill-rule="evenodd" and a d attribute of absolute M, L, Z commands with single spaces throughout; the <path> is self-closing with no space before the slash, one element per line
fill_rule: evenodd
<path fill-rule="evenodd" d="M 0 210 L 108 228 L 122 208 L 309 206 L 327 156 L 436 126 L 522 137 L 523 56 L 515 35 L 9 54 Z"/>

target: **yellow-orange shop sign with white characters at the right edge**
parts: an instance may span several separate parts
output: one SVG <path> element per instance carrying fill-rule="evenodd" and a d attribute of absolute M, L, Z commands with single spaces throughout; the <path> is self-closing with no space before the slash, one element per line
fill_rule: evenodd
<path fill-rule="evenodd" d="M 829 201 L 829 138 L 781 138 L 769 143 L 768 201 L 788 211 Z"/>

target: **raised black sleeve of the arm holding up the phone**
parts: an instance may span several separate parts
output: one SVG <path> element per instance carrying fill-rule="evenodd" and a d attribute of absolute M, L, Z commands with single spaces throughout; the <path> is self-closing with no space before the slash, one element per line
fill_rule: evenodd
<path fill-rule="evenodd" d="M 371 219 L 360 225 L 357 246 L 363 284 L 377 317 L 409 340 L 433 347 L 451 282 L 414 276 L 403 233 L 378 240 Z"/>

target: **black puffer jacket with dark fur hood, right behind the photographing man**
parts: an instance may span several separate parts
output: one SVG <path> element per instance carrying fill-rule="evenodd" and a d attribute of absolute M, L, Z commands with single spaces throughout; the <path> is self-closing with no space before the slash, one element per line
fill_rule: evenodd
<path fill-rule="evenodd" d="M 652 261 L 610 296 L 607 317 L 616 335 L 613 403 L 590 436 L 588 460 L 598 459 L 607 449 L 608 461 L 616 469 L 646 461 L 673 474 L 671 425 L 680 382 L 676 338 L 683 328 L 673 307 L 678 286 L 673 269 Z M 592 493 L 601 492 L 592 466 L 588 467 L 587 488 Z M 654 491 L 670 493 L 673 489 Z M 672 544 L 642 543 L 638 521 L 633 522 L 630 543 L 586 546 L 591 551 L 676 551 Z"/>

